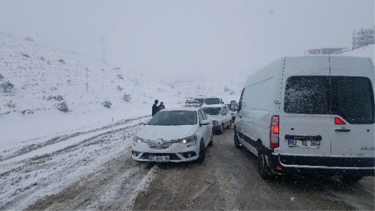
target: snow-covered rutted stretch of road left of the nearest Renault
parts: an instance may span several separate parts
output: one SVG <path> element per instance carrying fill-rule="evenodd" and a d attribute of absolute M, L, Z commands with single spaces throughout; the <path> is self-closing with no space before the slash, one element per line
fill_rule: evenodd
<path fill-rule="evenodd" d="M 153 176 L 153 170 L 144 170 L 130 157 L 133 135 L 142 127 L 141 122 L 149 118 L 127 119 L 115 122 L 112 127 L 107 125 L 86 131 L 83 128 L 73 134 L 3 146 L 0 158 L 0 210 L 21 210 L 46 195 L 68 190 L 72 184 L 79 185 L 88 179 L 94 181 L 100 178 L 111 182 L 102 192 L 99 191 L 98 202 L 113 200 L 113 191 L 121 188 L 116 186 L 118 182 L 115 181 L 130 180 L 126 183 L 129 191 L 125 191 L 123 196 L 126 197 L 122 199 L 128 198 L 130 202 L 126 206 L 132 206 L 132 197 L 136 197 L 137 188 L 141 190 Z M 110 179 L 103 172 L 118 170 L 111 169 L 115 162 L 122 163 L 121 171 L 118 171 L 118 175 L 111 174 Z M 93 185 L 96 187 L 97 184 Z"/>

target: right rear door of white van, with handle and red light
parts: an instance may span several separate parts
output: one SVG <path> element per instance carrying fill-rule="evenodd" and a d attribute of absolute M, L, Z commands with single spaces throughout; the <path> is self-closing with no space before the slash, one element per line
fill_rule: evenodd
<path fill-rule="evenodd" d="M 330 56 L 330 67 L 332 155 L 375 156 L 374 74 L 370 60 Z"/>

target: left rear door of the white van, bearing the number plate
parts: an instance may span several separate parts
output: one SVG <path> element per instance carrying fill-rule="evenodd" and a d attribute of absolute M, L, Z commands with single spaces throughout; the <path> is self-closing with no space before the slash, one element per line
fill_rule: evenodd
<path fill-rule="evenodd" d="M 329 57 L 287 57 L 283 74 L 281 154 L 330 155 Z"/>

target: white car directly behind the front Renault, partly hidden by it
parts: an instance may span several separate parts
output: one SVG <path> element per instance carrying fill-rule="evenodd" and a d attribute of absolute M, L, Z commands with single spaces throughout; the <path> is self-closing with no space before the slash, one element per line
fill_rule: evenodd
<path fill-rule="evenodd" d="M 201 107 L 213 124 L 213 131 L 222 134 L 224 128 L 232 127 L 232 115 L 228 111 L 228 106 L 224 104 L 203 105 Z"/>

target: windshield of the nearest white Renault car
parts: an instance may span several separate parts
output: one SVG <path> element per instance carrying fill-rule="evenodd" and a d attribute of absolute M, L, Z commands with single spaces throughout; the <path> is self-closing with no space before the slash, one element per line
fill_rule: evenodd
<path fill-rule="evenodd" d="M 148 125 L 195 125 L 195 111 L 162 111 L 148 122 Z"/>

